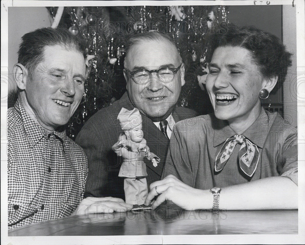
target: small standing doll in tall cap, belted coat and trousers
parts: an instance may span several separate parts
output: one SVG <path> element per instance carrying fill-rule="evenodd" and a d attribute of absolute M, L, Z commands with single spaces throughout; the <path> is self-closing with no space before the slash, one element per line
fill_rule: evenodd
<path fill-rule="evenodd" d="M 120 133 L 118 141 L 112 146 L 112 150 L 118 156 L 123 157 L 119 177 L 124 178 L 125 201 L 128 204 L 144 204 L 148 195 L 145 176 L 147 176 L 144 157 L 152 161 L 154 167 L 160 162 L 160 158 L 149 151 L 146 140 L 143 138 L 142 117 L 138 109 L 121 109 L 117 119 L 124 133 Z"/>

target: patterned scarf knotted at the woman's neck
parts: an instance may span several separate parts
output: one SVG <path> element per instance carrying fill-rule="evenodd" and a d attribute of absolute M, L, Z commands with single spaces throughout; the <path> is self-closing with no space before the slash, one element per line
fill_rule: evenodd
<path fill-rule="evenodd" d="M 215 171 L 218 172 L 224 168 L 237 144 L 241 145 L 238 153 L 239 166 L 246 175 L 251 177 L 257 168 L 260 153 L 257 146 L 243 135 L 234 135 L 224 142 L 215 160 Z"/>

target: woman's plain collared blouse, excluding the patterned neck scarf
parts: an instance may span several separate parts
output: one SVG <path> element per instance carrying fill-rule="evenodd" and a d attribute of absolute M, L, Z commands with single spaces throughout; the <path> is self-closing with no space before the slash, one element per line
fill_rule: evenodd
<path fill-rule="evenodd" d="M 163 178 L 175 175 L 197 189 L 226 187 L 249 181 L 282 176 L 298 184 L 297 130 L 278 113 L 261 107 L 257 120 L 242 133 L 257 145 L 260 158 L 252 177 L 239 167 L 236 146 L 221 171 L 215 172 L 215 159 L 224 142 L 236 133 L 214 113 L 180 121 L 170 139 Z"/>

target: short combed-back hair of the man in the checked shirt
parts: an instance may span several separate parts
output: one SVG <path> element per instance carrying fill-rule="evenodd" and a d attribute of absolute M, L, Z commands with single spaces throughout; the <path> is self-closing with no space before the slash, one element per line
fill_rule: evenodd
<path fill-rule="evenodd" d="M 45 46 L 60 45 L 67 50 L 75 50 L 87 58 L 82 41 L 64 28 L 41 28 L 26 33 L 21 38 L 18 50 L 18 63 L 25 66 L 31 77 L 38 63 L 44 60 Z"/>

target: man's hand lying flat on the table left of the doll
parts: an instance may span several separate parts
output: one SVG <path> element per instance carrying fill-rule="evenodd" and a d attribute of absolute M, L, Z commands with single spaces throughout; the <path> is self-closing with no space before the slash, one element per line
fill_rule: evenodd
<path fill-rule="evenodd" d="M 89 213 L 113 213 L 126 212 L 131 210 L 132 204 L 127 204 L 123 199 L 115 197 L 87 197 L 81 200 L 77 209 L 72 215 L 89 214 Z"/>

